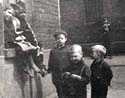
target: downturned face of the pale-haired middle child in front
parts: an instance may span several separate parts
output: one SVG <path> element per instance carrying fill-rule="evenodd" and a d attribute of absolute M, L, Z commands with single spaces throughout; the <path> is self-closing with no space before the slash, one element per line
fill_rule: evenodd
<path fill-rule="evenodd" d="M 82 59 L 82 54 L 78 52 L 71 53 L 69 56 L 70 56 L 70 60 L 75 64 L 80 62 Z"/>

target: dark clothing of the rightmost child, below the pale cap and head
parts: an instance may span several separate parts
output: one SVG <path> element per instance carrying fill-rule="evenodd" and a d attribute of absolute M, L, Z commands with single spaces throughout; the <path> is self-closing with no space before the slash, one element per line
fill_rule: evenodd
<path fill-rule="evenodd" d="M 105 61 L 91 64 L 92 98 L 106 98 L 112 77 L 112 70 Z"/>

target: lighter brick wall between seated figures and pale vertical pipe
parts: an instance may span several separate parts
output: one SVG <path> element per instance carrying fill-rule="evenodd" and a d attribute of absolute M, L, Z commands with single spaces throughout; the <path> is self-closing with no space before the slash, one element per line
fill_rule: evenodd
<path fill-rule="evenodd" d="M 31 5 L 29 5 L 31 8 Z M 53 34 L 58 29 L 58 0 L 32 0 L 32 27 L 45 48 L 54 46 Z M 30 10 L 29 9 L 29 13 Z"/>

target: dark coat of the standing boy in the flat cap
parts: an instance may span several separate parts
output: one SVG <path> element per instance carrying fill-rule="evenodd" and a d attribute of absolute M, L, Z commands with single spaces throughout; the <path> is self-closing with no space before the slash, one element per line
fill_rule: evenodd
<path fill-rule="evenodd" d="M 48 72 L 52 73 L 52 82 L 57 84 L 61 82 L 61 73 L 63 69 L 70 65 L 68 58 L 68 46 L 54 48 L 50 51 Z"/>

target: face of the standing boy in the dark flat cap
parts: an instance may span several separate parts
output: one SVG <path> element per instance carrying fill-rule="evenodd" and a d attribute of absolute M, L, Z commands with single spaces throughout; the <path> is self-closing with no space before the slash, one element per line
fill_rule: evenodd
<path fill-rule="evenodd" d="M 63 34 L 59 34 L 56 38 L 56 43 L 58 46 L 65 45 L 66 41 L 67 41 L 67 38 Z"/>

